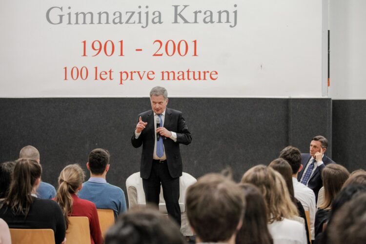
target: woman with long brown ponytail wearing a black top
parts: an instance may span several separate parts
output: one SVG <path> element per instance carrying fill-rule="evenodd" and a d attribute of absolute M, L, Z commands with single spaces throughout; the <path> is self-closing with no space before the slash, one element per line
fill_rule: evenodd
<path fill-rule="evenodd" d="M 31 159 L 19 159 L 14 166 L 12 182 L 0 204 L 0 218 L 10 228 L 52 229 L 56 244 L 65 239 L 65 220 L 60 206 L 52 200 L 34 197 L 41 182 L 41 165 Z"/>

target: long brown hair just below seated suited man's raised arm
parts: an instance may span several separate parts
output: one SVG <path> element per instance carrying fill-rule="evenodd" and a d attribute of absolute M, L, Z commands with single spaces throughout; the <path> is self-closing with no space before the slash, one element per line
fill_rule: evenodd
<path fill-rule="evenodd" d="M 328 164 L 322 171 L 324 203 L 319 208 L 330 209 L 333 199 L 349 177 L 348 170 L 340 164 Z"/>

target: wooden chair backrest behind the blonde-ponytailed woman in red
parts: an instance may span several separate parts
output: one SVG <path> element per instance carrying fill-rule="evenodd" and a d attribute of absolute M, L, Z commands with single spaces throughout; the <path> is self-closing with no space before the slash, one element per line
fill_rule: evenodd
<path fill-rule="evenodd" d="M 69 217 L 69 227 L 66 230 L 67 244 L 90 244 L 90 228 L 88 217 Z"/>

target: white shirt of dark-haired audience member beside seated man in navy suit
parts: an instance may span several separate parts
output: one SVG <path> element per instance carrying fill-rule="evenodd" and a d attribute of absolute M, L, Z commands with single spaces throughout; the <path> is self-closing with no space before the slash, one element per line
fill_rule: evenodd
<path fill-rule="evenodd" d="M 292 184 L 294 186 L 295 198 L 300 201 L 305 211 L 309 211 L 311 240 L 315 240 L 314 223 L 316 203 L 314 191 L 305 184 L 298 182 L 295 177 L 292 177 Z"/>

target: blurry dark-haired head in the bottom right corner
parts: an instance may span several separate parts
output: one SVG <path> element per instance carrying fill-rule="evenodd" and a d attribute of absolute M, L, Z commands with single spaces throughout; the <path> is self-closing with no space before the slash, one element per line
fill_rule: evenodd
<path fill-rule="evenodd" d="M 328 226 L 328 244 L 361 244 L 366 242 L 366 193 L 345 203 Z"/>

